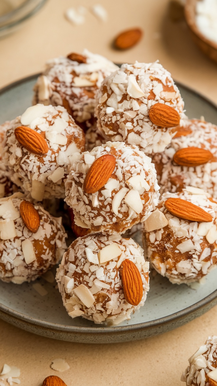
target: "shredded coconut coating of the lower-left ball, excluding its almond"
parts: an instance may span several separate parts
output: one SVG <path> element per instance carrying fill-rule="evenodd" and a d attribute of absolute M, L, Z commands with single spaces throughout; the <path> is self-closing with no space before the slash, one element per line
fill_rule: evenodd
<path fill-rule="evenodd" d="M 32 233 L 24 225 L 19 212 L 20 204 L 26 197 L 22 193 L 15 193 L 9 198 L 1 199 L 0 205 L 7 200 L 12 200 L 19 217 L 14 220 L 16 237 L 0 242 L 0 279 L 7 283 L 22 284 L 24 281 L 35 280 L 62 259 L 67 249 L 67 235 L 62 226 L 62 218 L 51 216 L 40 204 L 34 204 L 39 213 L 40 226 L 36 233 Z M 5 219 L 9 221 L 10 213 L 0 215 L 0 226 Z M 29 240 L 34 249 L 35 259 L 29 264 L 26 258 L 29 257 L 30 251 L 28 256 L 24 257 L 22 250 L 24 240 Z"/>

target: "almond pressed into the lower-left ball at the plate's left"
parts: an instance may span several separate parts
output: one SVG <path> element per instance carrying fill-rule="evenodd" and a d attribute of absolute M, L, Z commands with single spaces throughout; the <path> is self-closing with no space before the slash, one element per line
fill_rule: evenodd
<path fill-rule="evenodd" d="M 36 233 L 40 226 L 40 217 L 38 210 L 29 201 L 22 201 L 20 205 L 21 218 L 27 229 L 32 233 Z"/>

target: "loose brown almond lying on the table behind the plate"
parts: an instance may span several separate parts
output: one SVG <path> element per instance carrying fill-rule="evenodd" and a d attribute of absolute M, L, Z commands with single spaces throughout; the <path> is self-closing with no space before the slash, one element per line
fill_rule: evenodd
<path fill-rule="evenodd" d="M 114 40 L 114 47 L 117 49 L 128 49 L 140 41 L 142 30 L 140 28 L 129 29 L 121 32 Z"/>

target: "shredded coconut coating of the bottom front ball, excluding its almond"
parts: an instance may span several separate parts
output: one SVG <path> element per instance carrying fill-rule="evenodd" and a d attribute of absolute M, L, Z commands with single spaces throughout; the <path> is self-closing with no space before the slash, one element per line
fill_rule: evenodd
<path fill-rule="evenodd" d="M 113 243 L 120 248 L 120 256 L 103 264 L 88 260 L 86 251 L 97 258 L 104 247 Z M 120 265 L 125 259 L 133 261 L 141 274 L 143 296 L 137 306 L 129 304 L 124 298 Z M 72 279 L 70 283 L 69 279 Z M 118 324 L 130 319 L 130 314 L 144 305 L 149 291 L 149 262 L 145 261 L 143 249 L 132 239 L 123 239 L 118 234 L 109 237 L 90 234 L 79 237 L 70 245 L 57 269 L 56 280 L 63 304 L 71 317 L 81 315 L 97 324 Z M 74 293 L 80 284 L 84 284 L 94 296 L 90 307 L 85 306 Z"/>

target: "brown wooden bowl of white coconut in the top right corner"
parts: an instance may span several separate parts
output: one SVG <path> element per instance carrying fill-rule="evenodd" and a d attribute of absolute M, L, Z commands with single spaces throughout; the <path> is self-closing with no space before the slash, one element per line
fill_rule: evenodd
<path fill-rule="evenodd" d="M 196 25 L 196 3 L 200 0 L 186 0 L 185 19 L 190 28 L 193 41 L 212 60 L 217 62 L 217 43 L 207 39 Z"/>

